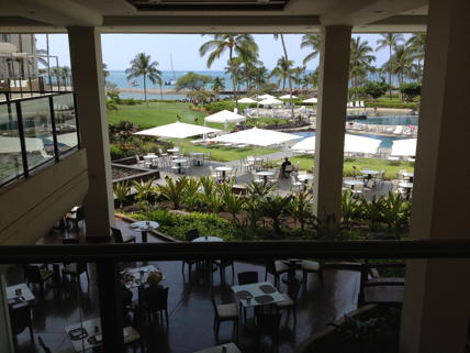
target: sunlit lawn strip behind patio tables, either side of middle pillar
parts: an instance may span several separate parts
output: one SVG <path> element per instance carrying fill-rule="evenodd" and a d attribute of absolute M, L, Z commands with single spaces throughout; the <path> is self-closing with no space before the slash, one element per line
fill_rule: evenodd
<path fill-rule="evenodd" d="M 296 164 L 299 162 L 299 167 L 301 170 L 312 172 L 314 162 L 312 156 L 298 156 L 290 158 L 290 161 L 292 164 Z M 409 172 L 414 170 L 414 166 L 409 162 L 400 162 L 399 165 L 396 165 L 396 163 L 391 165 L 388 161 L 384 159 L 356 158 L 354 162 L 344 162 L 343 175 L 352 176 L 352 166 L 356 166 L 359 170 L 366 167 L 370 167 L 373 170 L 384 169 L 387 179 L 396 179 L 400 169 L 406 169 Z"/>

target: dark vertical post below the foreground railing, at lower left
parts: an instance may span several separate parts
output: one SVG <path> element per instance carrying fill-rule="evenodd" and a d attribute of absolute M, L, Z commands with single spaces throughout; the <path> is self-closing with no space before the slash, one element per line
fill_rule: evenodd
<path fill-rule="evenodd" d="M 97 263 L 103 352 L 124 352 L 122 300 L 116 263 Z"/>

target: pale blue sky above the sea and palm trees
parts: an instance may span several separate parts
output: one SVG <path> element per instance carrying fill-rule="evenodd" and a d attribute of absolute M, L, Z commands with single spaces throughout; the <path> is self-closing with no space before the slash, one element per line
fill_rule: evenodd
<path fill-rule="evenodd" d="M 354 35 L 358 36 L 358 35 Z M 378 34 L 360 34 L 368 41 L 372 48 L 380 37 Z M 276 66 L 276 62 L 282 56 L 282 45 L 271 34 L 254 35 L 258 47 L 259 58 L 268 69 Z M 407 35 L 405 35 L 405 38 Z M 46 47 L 45 34 L 36 35 L 37 48 Z M 130 66 L 130 60 L 137 53 L 146 53 L 153 60 L 159 63 L 160 70 L 170 70 L 172 63 L 175 70 L 206 70 L 206 57 L 199 55 L 199 47 L 211 38 L 210 35 L 200 34 L 102 34 L 103 63 L 110 70 L 124 70 Z M 289 58 L 294 60 L 294 66 L 302 66 L 302 59 L 309 54 L 309 49 L 301 49 L 302 34 L 284 34 L 284 42 Z M 57 55 L 60 66 L 70 66 L 67 34 L 49 34 L 51 55 Z M 376 53 L 376 66 L 381 66 L 388 60 L 388 51 Z M 210 69 L 224 70 L 228 54 L 214 62 Z M 314 69 L 318 65 L 318 58 L 307 64 L 307 69 Z"/>

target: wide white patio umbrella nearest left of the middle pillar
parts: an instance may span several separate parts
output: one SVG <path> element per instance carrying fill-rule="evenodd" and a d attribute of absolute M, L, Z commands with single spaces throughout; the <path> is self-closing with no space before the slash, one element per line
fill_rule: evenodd
<path fill-rule="evenodd" d="M 278 132 L 273 130 L 253 128 L 249 130 L 243 130 L 226 135 L 217 136 L 215 139 L 212 139 L 212 141 L 239 143 L 266 147 L 295 139 L 299 139 L 299 135 L 286 132 Z"/>

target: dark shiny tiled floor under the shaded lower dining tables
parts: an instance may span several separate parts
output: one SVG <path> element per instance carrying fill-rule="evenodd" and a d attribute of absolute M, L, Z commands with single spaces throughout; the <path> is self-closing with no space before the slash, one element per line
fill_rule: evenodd
<path fill-rule="evenodd" d="M 128 231 L 128 228 L 119 222 L 119 225 Z M 48 235 L 44 242 L 56 242 L 59 233 Z M 150 241 L 158 241 L 149 236 Z M 134 266 L 135 264 L 130 264 Z M 230 268 L 226 271 L 226 282 L 221 283 L 219 272 L 214 273 L 211 286 L 208 278 L 193 269 L 191 279 L 188 274 L 181 273 L 181 262 L 158 262 L 155 265 L 166 275 L 163 283 L 169 287 L 169 326 L 153 324 L 144 330 L 146 352 L 190 353 L 203 348 L 215 345 L 213 331 L 213 308 L 210 300 L 211 288 L 217 301 L 234 301 L 231 285 L 234 284 Z M 56 284 L 55 288 L 44 290 L 44 295 L 35 289 L 36 304 L 33 306 L 34 335 L 36 345 L 32 344 L 27 330 L 18 335 L 18 353 L 42 352 L 37 345 L 41 335 L 53 352 L 72 352 L 64 328 L 68 324 L 99 316 L 98 289 L 96 286 L 94 265 L 89 265 L 90 284 L 85 274 L 80 286 L 69 280 Z M 235 274 L 243 271 L 257 271 L 259 279 L 265 278 L 265 267 L 243 262 L 235 263 Z M 298 274 L 300 276 L 300 273 Z M 293 326 L 292 317 L 282 313 L 280 352 L 293 352 L 294 348 L 307 339 L 312 333 L 322 329 L 337 317 L 354 310 L 359 291 L 359 274 L 355 272 L 325 269 L 325 283 L 322 286 L 316 275 L 309 275 L 306 288 L 302 288 L 298 301 L 298 322 Z M 12 267 L 7 276 L 9 285 L 23 282 L 20 267 Z M 268 276 L 268 280 L 273 280 Z M 236 283 L 236 280 L 235 280 Z M 287 286 L 281 284 L 281 291 Z M 137 293 L 134 293 L 134 300 Z M 220 343 L 232 341 L 232 323 L 222 323 Z M 256 340 L 253 333 L 243 329 L 238 346 L 242 352 L 271 352 L 269 340 L 261 343 L 256 350 Z"/>

